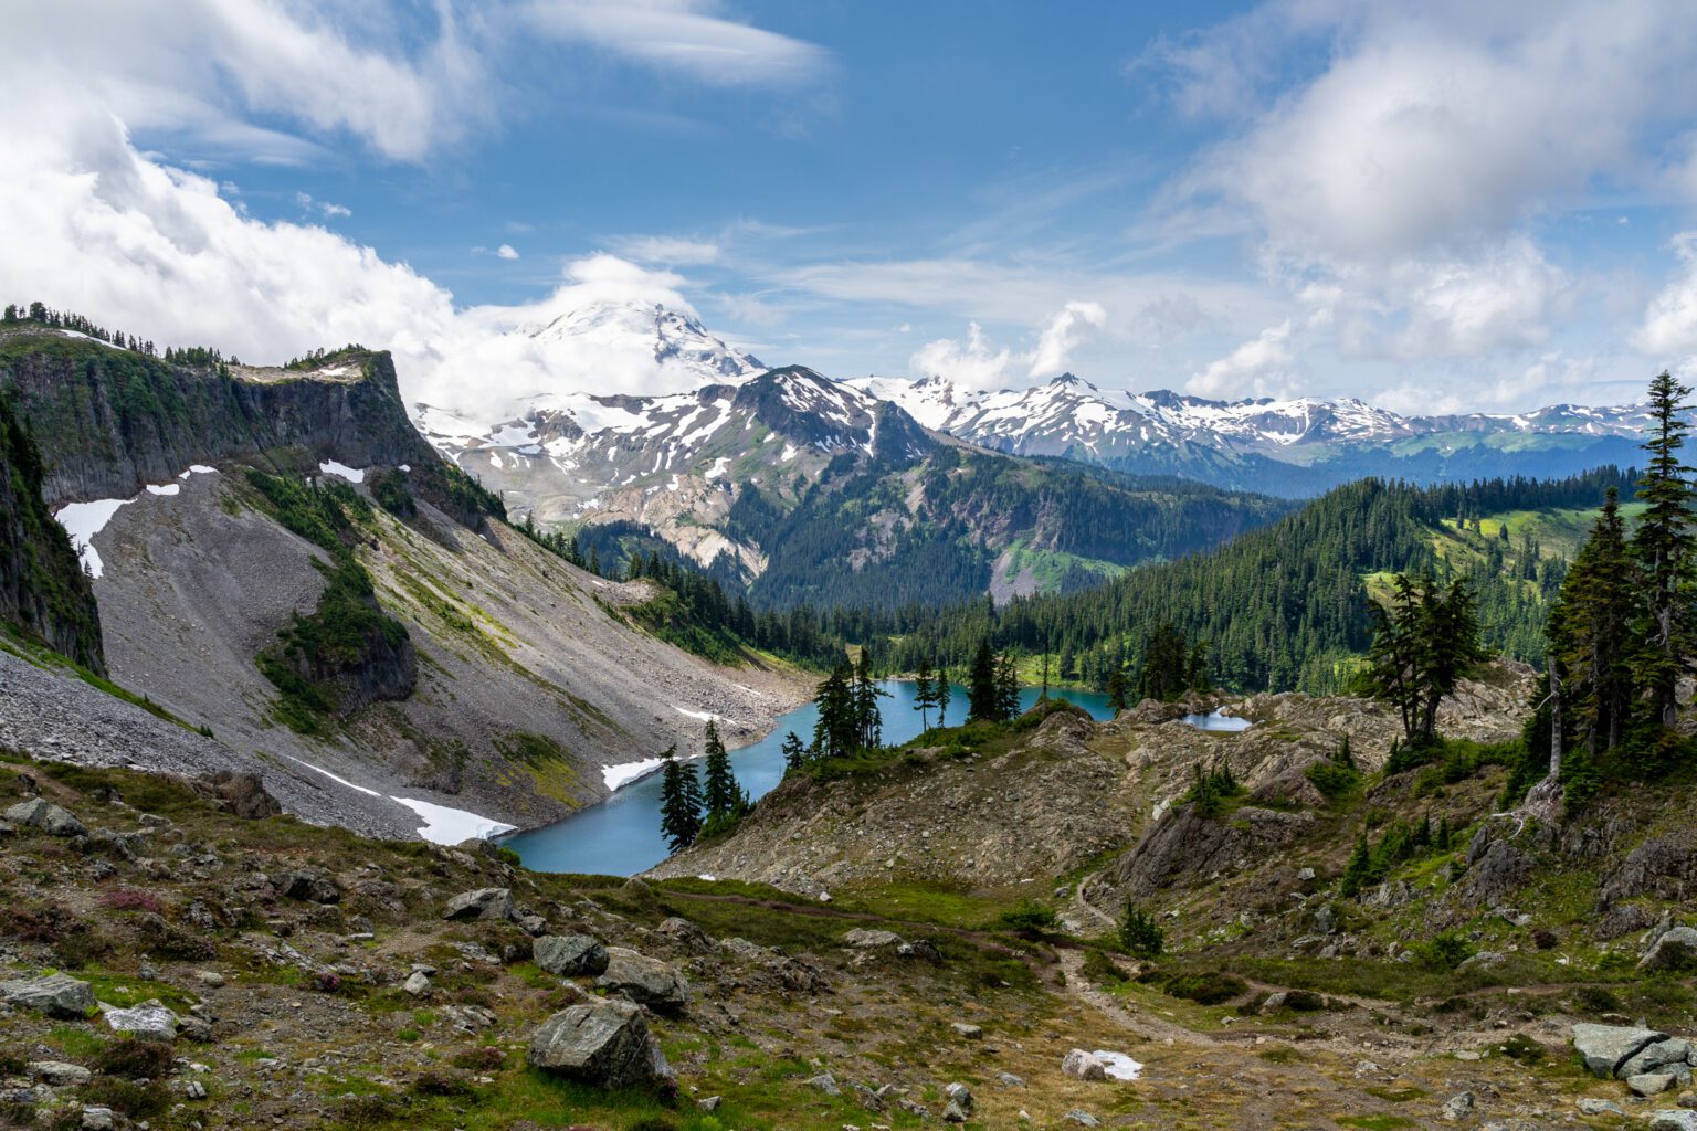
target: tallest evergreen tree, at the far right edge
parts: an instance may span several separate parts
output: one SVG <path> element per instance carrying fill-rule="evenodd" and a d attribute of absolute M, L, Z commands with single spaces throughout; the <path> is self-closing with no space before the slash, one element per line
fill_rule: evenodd
<path fill-rule="evenodd" d="M 1680 460 L 1685 446 L 1685 421 L 1690 388 L 1668 373 L 1649 383 L 1653 417 L 1649 466 L 1638 482 L 1644 514 L 1638 521 L 1633 553 L 1638 558 L 1643 610 L 1638 617 L 1639 639 L 1634 673 L 1644 688 L 1651 719 L 1673 726 L 1675 690 L 1680 675 L 1692 668 L 1697 651 L 1697 617 L 1692 609 L 1692 468 Z"/>

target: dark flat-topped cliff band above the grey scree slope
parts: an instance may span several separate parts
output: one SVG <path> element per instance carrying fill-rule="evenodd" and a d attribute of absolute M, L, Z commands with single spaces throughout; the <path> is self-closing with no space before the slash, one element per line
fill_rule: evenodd
<path fill-rule="evenodd" d="M 224 460 L 440 463 L 407 421 L 387 353 L 336 353 L 309 370 L 195 368 L 25 326 L 0 334 L 0 387 L 15 390 L 42 446 L 49 505 L 127 499 Z"/>

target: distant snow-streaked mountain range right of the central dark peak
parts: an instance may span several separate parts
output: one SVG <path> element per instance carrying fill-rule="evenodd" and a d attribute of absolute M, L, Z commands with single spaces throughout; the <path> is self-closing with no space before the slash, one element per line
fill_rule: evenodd
<path fill-rule="evenodd" d="M 1641 405 L 1553 405 L 1526 414 L 1405 417 L 1353 397 L 1207 400 L 1103 390 L 1071 373 L 1022 390 L 976 392 L 940 378 L 850 382 L 928 427 L 1027 456 L 1061 456 L 1222 487 L 1319 493 L 1363 475 L 1465 480 L 1568 475 L 1631 463 Z"/>

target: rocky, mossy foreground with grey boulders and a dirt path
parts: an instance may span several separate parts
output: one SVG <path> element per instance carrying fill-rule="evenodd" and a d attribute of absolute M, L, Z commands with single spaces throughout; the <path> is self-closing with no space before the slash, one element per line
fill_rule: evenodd
<path fill-rule="evenodd" d="M 1298 710 L 1336 716 L 1313 702 L 1283 710 L 1291 727 Z M 1504 768 L 1487 761 L 1371 777 L 1308 809 L 1254 785 L 1201 817 L 1161 785 L 1185 772 L 1151 748 L 1169 726 L 1062 712 L 886 768 L 930 787 L 915 804 L 944 805 L 944 824 L 954 794 L 927 775 L 991 782 L 1023 765 L 1050 775 L 1039 782 L 1089 783 L 1067 766 L 1134 738 L 1147 790 L 1127 790 L 1122 809 L 1164 816 L 1098 851 L 1088 838 L 1105 826 L 1081 809 L 1096 855 L 1071 872 L 1056 868 L 1064 846 L 1008 841 L 957 860 L 981 868 L 1020 851 L 1030 875 L 944 880 L 898 861 L 843 877 L 830 899 L 536 875 L 484 843 L 304 826 L 256 778 L 14 756 L 0 761 L 0 1119 L 1697 1128 L 1683 792 L 1515 833 L 1490 817 Z M 1190 741 L 1230 743 L 1174 734 Z M 1254 739 L 1268 751 L 1303 741 L 1320 746 L 1297 729 Z M 1381 809 L 1385 829 L 1424 805 L 1451 819 L 1451 848 L 1341 895 L 1363 814 Z M 1252 811 L 1307 821 L 1257 855 L 1132 866 L 1151 858 L 1152 831 L 1242 834 L 1257 827 Z M 1481 875 L 1497 887 L 1480 890 Z M 1142 902 L 1168 938 L 1154 960 L 1127 953 L 1103 911 L 1134 883 L 1149 883 Z M 1071 929 L 1045 922 L 1045 907 Z"/>

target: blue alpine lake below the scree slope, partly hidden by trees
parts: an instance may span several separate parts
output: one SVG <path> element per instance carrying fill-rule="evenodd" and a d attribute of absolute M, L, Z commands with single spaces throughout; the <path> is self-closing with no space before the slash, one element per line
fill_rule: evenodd
<path fill-rule="evenodd" d="M 879 687 L 889 695 L 879 702 L 884 712 L 884 741 L 899 746 L 920 734 L 920 712 L 913 709 L 910 680 L 884 680 Z M 1037 702 L 1039 690 L 1020 692 L 1020 705 Z M 1050 699 L 1078 704 L 1095 719 L 1112 717 L 1108 697 L 1095 692 L 1050 690 Z M 731 768 L 748 797 L 760 799 L 784 778 L 784 736 L 794 731 L 801 741 L 813 739 L 813 724 L 820 712 L 813 704 L 803 704 L 779 716 L 772 733 L 759 743 L 731 751 Z M 949 722 L 959 726 L 966 719 L 966 688 L 955 687 L 949 700 Z M 932 716 L 932 726 L 937 717 Z M 696 751 L 699 753 L 699 751 Z M 643 758 L 653 755 L 643 753 Z M 633 758 L 635 761 L 635 758 Z M 667 858 L 665 838 L 660 836 L 660 775 L 631 782 L 616 790 L 599 805 L 574 812 L 563 821 L 514 833 L 501 841 L 524 860 L 535 872 L 582 872 L 592 875 L 636 875 Z"/>

